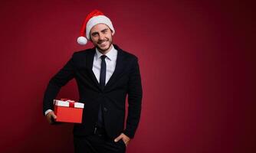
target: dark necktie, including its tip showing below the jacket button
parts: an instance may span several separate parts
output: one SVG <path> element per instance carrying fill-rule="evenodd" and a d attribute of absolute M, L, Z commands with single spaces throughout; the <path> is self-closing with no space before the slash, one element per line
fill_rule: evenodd
<path fill-rule="evenodd" d="M 105 58 L 107 56 L 106 55 L 102 55 L 101 58 L 101 66 L 100 66 L 100 87 L 103 90 L 105 83 L 106 83 L 106 61 Z M 98 125 L 100 127 L 103 127 L 103 113 L 102 113 L 102 106 L 100 105 L 100 109 L 98 112 Z"/>

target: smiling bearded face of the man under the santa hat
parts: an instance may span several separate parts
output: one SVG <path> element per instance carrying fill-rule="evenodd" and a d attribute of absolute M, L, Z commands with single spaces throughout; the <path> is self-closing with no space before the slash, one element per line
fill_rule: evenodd
<path fill-rule="evenodd" d="M 90 30 L 90 39 L 94 46 L 99 50 L 106 52 L 112 44 L 112 31 L 106 24 L 96 24 Z"/>

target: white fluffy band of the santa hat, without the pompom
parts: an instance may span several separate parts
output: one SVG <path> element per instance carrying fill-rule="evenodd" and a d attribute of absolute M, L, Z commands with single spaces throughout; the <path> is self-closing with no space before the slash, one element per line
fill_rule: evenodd
<path fill-rule="evenodd" d="M 90 29 L 93 28 L 96 24 L 107 24 L 107 26 L 112 30 L 113 34 L 115 33 L 110 18 L 107 18 L 105 15 L 94 16 L 93 18 L 90 18 L 90 20 L 87 22 L 86 36 L 88 40 L 90 40 Z"/>

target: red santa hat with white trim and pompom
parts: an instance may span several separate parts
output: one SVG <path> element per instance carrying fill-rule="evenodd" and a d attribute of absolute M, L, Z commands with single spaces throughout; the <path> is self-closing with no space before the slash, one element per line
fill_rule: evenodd
<path fill-rule="evenodd" d="M 91 11 L 87 18 L 85 18 L 82 28 L 80 29 L 80 37 L 77 38 L 77 43 L 81 45 L 87 44 L 87 39 L 90 40 L 90 29 L 96 24 L 107 24 L 111 29 L 113 34 L 115 30 L 113 29 L 113 24 L 110 21 L 110 18 L 107 18 L 101 11 L 94 10 Z M 86 35 L 86 37 L 84 37 Z"/>

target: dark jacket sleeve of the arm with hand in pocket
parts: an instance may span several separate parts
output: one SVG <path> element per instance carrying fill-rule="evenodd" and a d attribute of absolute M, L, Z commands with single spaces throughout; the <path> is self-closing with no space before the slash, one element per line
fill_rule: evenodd
<path fill-rule="evenodd" d="M 128 116 L 126 119 L 126 129 L 123 132 L 130 138 L 134 137 L 139 125 L 142 97 L 143 90 L 139 73 L 139 63 L 136 58 L 136 60 L 133 61 L 133 66 L 130 71 L 128 83 Z"/>

